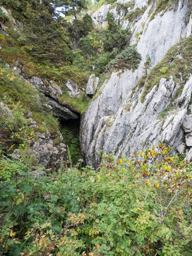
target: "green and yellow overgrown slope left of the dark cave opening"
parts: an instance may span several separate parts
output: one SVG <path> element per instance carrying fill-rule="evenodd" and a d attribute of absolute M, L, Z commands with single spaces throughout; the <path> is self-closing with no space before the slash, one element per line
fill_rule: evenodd
<path fill-rule="evenodd" d="M 55 136 L 59 129 L 58 120 L 53 113 L 44 110 L 47 100 L 34 87 L 26 83 L 13 69 L 0 63 L 0 150 L 12 151 L 25 145 L 35 132 L 49 132 Z M 30 127 L 30 118 L 36 122 L 36 127 Z"/>

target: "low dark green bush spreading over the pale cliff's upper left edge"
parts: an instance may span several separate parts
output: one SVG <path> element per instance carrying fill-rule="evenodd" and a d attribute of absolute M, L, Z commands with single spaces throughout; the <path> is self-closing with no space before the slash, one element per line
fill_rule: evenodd
<path fill-rule="evenodd" d="M 121 69 L 137 69 L 141 62 L 141 54 L 136 50 L 136 45 L 131 45 L 129 48 L 121 51 L 114 60 L 110 61 L 109 67 Z"/>

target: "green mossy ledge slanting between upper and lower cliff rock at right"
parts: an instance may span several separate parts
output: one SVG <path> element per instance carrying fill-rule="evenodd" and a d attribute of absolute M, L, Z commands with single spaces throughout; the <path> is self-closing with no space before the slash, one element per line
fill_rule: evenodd
<path fill-rule="evenodd" d="M 137 88 L 143 88 L 144 91 L 141 101 L 144 102 L 146 95 L 154 85 L 159 85 L 161 78 L 169 79 L 173 77 L 174 83 L 182 86 L 189 79 L 192 63 L 192 36 L 182 39 L 179 43 L 168 50 L 165 57 L 149 72 L 139 79 L 138 83 L 132 89 L 132 95 Z M 181 93 L 180 89 L 178 93 Z M 176 97 L 178 97 L 178 93 Z"/>

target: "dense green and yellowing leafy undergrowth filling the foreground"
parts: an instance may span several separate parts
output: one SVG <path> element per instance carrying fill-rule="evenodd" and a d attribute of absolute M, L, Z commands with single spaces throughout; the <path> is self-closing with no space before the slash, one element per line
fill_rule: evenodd
<path fill-rule="evenodd" d="M 130 160 L 104 154 L 99 171 L 57 173 L 32 171 L 25 154 L 2 156 L 1 253 L 190 255 L 191 165 L 168 150 L 160 144 Z"/>

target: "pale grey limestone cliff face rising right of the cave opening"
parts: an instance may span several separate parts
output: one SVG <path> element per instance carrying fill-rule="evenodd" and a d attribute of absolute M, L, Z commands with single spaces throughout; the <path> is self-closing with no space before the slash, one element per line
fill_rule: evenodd
<path fill-rule="evenodd" d="M 183 153 L 187 143 L 185 137 L 190 137 L 185 134 L 186 129 L 183 129 L 182 124 L 191 118 L 187 115 L 187 110 L 190 108 L 192 77 L 185 83 L 182 95 L 177 100 L 173 98 L 179 84 L 174 83 L 172 77 L 161 79 L 152 90 L 148 91 L 144 102 L 141 101 L 144 88 L 136 89 L 135 94 L 131 93 L 133 86 L 144 74 L 144 63 L 149 56 L 154 67 L 171 46 L 180 39 L 190 36 L 189 1 L 179 0 L 174 7 L 161 13 L 154 13 L 155 15 L 152 12 L 153 9 L 155 11 L 154 1 L 150 5 L 147 5 L 147 1 L 135 2 L 138 4 L 137 8 L 143 7 L 140 2 L 147 7 L 144 13 L 131 24 L 131 44 L 137 43 L 137 51 L 141 54 L 142 61 L 134 72 L 127 70 L 112 73 L 109 80 L 102 85 L 100 96 L 91 103 L 82 118 L 80 132 L 82 153 L 86 164 L 95 167 L 100 164 L 96 150 L 103 149 L 106 153 L 115 152 L 117 156 L 130 155 L 134 149 L 142 149 L 144 142 L 150 146 L 162 141 L 170 144 L 174 152 L 178 148 L 179 153 Z M 102 25 L 105 14 L 101 18 L 101 13 L 100 20 L 93 19 L 102 22 Z M 152 15 L 154 19 L 151 18 Z M 171 102 L 176 109 L 164 120 L 159 119 L 160 114 Z M 190 153 L 190 148 L 186 153 L 188 151 Z"/>

